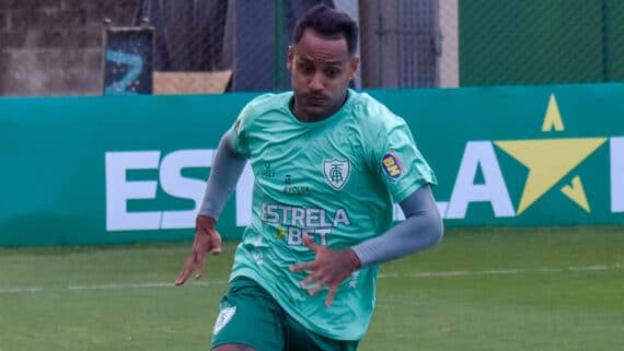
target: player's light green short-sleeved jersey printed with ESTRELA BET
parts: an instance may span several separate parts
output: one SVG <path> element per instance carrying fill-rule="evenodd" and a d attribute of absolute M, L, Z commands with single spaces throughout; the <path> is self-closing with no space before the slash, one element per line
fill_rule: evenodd
<path fill-rule="evenodd" d="M 314 260 L 303 235 L 335 249 L 381 235 L 393 202 L 436 178 L 405 121 L 368 94 L 349 90 L 336 114 L 315 122 L 292 115 L 292 96 L 256 97 L 230 130 L 255 177 L 252 222 L 231 279 L 254 279 L 310 330 L 359 340 L 374 307 L 378 267 L 355 271 L 326 308 L 326 289 L 309 296 L 300 288 L 308 273 L 289 270 Z"/>

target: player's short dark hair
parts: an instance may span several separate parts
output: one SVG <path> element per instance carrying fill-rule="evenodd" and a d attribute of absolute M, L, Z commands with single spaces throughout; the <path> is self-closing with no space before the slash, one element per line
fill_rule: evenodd
<path fill-rule="evenodd" d="M 322 36 L 344 35 L 347 49 L 354 55 L 358 45 L 358 24 L 348 14 L 334 10 L 327 5 L 319 4 L 305 12 L 297 21 L 292 31 L 292 44 L 298 44 L 305 30 L 312 30 Z"/>

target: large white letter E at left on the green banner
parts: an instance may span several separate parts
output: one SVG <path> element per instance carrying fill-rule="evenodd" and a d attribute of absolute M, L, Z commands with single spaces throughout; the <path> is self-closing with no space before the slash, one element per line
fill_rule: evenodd
<path fill-rule="evenodd" d="M 106 152 L 106 230 L 158 230 L 160 212 L 127 211 L 129 199 L 153 199 L 155 180 L 127 182 L 127 169 L 158 168 L 160 151 Z"/>

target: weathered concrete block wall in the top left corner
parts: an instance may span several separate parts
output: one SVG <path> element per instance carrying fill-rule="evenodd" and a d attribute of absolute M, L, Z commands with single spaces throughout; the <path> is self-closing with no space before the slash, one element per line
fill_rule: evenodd
<path fill-rule="evenodd" d="M 136 0 L 0 0 L 0 95 L 100 95 L 103 20 L 130 25 Z"/>

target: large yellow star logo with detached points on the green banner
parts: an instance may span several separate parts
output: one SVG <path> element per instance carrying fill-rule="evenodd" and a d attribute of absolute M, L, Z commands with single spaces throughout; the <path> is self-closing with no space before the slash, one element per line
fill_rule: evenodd
<path fill-rule="evenodd" d="M 547 132 L 553 129 L 563 131 L 565 128 L 555 95 L 551 94 L 542 131 Z M 606 138 L 495 141 L 498 148 L 529 168 L 517 213 L 524 212 L 605 141 Z M 575 176 L 571 184 L 565 185 L 561 190 L 583 210 L 591 211 L 580 176 Z"/>

